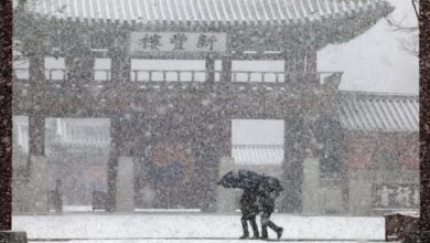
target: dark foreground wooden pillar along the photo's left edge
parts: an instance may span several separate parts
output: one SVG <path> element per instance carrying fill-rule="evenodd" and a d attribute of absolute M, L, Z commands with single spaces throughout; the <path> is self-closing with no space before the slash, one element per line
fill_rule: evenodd
<path fill-rule="evenodd" d="M 12 230 L 12 1 L 0 6 L 0 231 Z"/>

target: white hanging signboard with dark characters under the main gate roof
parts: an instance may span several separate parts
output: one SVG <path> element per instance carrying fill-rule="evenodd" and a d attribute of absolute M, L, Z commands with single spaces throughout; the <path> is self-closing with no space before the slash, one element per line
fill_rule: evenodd
<path fill-rule="evenodd" d="M 225 52 L 226 33 L 132 32 L 130 52 Z"/>

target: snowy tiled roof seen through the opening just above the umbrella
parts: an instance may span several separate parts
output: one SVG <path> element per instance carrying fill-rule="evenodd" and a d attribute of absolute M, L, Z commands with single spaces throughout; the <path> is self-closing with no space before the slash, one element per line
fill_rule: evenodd
<path fill-rule="evenodd" d="M 233 145 L 232 157 L 239 165 L 281 165 L 283 145 Z"/>

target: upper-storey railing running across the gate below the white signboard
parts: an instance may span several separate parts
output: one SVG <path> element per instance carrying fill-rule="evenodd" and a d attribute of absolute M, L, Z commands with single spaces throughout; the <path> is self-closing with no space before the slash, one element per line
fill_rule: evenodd
<path fill-rule="evenodd" d="M 65 68 L 46 68 L 44 71 L 47 82 L 67 81 L 67 71 Z M 131 70 L 130 81 L 135 83 L 204 83 L 207 81 L 208 73 L 205 70 Z M 17 80 L 28 81 L 28 68 L 14 68 Z M 214 71 L 214 82 L 222 82 L 223 72 Z M 232 83 L 313 83 L 326 84 L 340 82 L 341 72 L 275 72 L 275 71 L 232 71 Z M 95 70 L 89 82 L 85 84 L 106 84 L 112 81 L 110 70 Z M 338 83 L 337 83 L 338 84 Z"/>

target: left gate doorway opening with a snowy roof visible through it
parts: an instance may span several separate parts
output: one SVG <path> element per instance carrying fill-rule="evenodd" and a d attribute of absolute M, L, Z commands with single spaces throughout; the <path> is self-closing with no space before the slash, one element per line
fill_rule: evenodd
<path fill-rule="evenodd" d="M 63 211 L 92 211 L 93 192 L 107 191 L 109 126 L 103 118 L 46 118 L 47 188 L 61 181 Z"/>

